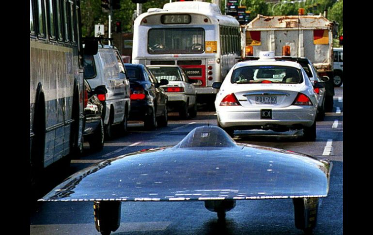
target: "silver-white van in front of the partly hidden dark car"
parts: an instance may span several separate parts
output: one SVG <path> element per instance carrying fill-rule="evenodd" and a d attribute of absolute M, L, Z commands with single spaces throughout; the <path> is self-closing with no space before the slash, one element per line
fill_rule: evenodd
<path fill-rule="evenodd" d="M 98 95 L 104 105 L 102 115 L 108 138 L 113 137 L 113 125 L 117 125 L 119 130 L 126 132 L 130 110 L 130 90 L 118 49 L 113 46 L 99 45 L 96 55 L 85 55 L 84 78 L 93 90 L 100 85 L 105 85 L 108 90 L 107 94 Z"/>

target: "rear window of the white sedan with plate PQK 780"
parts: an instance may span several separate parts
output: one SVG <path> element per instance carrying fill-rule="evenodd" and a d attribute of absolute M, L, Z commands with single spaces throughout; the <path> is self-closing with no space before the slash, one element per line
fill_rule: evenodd
<path fill-rule="evenodd" d="M 287 66 L 245 66 L 233 71 L 232 83 L 301 83 L 299 69 Z"/>

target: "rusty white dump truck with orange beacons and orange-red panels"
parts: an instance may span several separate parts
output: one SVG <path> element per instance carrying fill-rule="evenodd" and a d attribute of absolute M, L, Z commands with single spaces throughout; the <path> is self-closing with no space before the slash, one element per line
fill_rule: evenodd
<path fill-rule="evenodd" d="M 326 111 L 333 109 L 333 36 L 337 24 L 318 16 L 258 15 L 241 27 L 242 58 L 258 57 L 260 51 L 275 56 L 308 58 L 320 77 L 326 76 Z"/>

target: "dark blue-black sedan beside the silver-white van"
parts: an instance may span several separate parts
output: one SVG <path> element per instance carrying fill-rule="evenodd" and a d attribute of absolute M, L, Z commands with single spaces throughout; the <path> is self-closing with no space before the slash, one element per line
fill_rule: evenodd
<path fill-rule="evenodd" d="M 167 126 L 167 94 L 161 85 L 169 83 L 166 79 L 159 82 L 143 64 L 124 64 L 130 81 L 131 110 L 129 120 L 141 120 L 147 129 Z"/>

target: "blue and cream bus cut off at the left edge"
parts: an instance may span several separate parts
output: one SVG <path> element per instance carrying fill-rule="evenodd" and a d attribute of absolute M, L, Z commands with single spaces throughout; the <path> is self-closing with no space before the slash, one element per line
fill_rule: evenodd
<path fill-rule="evenodd" d="M 82 150 L 82 53 L 79 0 L 30 0 L 31 186 Z"/>

